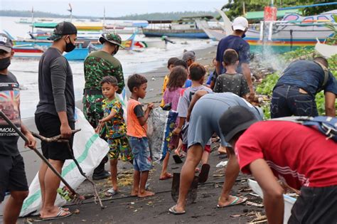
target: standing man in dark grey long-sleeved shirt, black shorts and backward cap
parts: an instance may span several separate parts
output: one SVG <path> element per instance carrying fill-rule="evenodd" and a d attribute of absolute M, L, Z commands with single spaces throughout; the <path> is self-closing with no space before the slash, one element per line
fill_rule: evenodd
<path fill-rule="evenodd" d="M 58 23 L 49 39 L 53 41 L 53 45 L 43 53 L 38 63 L 40 100 L 36 107 L 35 123 L 38 132 L 44 137 L 60 134 L 63 139 L 69 139 L 69 146 L 73 147 L 72 129 L 75 129 L 73 73 L 68 60 L 63 57 L 63 52 L 75 49 L 77 28 L 73 23 Z M 62 172 L 65 160 L 72 158 L 67 143 L 42 142 L 41 149 L 43 156 L 59 174 Z M 52 220 L 71 215 L 68 208 L 55 206 L 60 178 L 55 176 L 44 163 L 38 171 L 38 179 L 42 195 L 41 218 Z"/>

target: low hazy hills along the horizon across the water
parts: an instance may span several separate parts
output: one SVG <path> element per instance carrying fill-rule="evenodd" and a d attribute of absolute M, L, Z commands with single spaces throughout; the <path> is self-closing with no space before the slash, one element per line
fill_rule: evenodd
<path fill-rule="evenodd" d="M 110 17 L 107 19 L 121 20 L 176 20 L 183 16 L 219 16 L 215 11 L 184 11 L 184 12 L 169 12 L 169 13 L 153 13 L 153 14 L 132 14 L 127 16 Z M 31 11 L 16 11 L 16 10 L 0 10 L 0 16 L 15 16 L 15 17 L 31 17 Z M 69 18 L 69 15 L 52 14 L 43 11 L 34 11 L 35 17 L 43 18 Z M 91 16 L 73 16 L 73 18 L 102 18 Z"/>

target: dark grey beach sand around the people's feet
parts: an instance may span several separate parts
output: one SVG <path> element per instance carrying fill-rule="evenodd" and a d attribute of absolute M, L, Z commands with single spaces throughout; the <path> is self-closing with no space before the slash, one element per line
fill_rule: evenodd
<path fill-rule="evenodd" d="M 211 66 L 212 60 L 215 57 L 216 46 L 203 50 L 195 50 L 195 52 L 198 63 Z M 211 71 L 213 69 L 210 68 L 208 70 Z M 148 79 L 148 88 L 146 97 L 144 100 L 141 100 L 141 102 L 144 104 L 154 102 L 156 106 L 159 105 L 162 97 L 161 88 L 164 76 L 167 73 L 167 68 L 163 67 L 143 74 Z M 77 102 L 77 107 L 82 109 L 82 103 L 80 101 Z M 23 122 L 33 132 L 37 132 L 33 119 L 26 119 Z M 33 151 L 23 149 L 23 142 L 21 140 L 18 145 L 24 157 L 28 183 L 30 183 L 36 175 L 41 161 Z M 38 148 L 40 149 L 40 144 L 38 144 Z M 150 190 L 156 192 L 156 195 L 140 199 L 129 196 L 132 185 L 132 165 L 120 161 L 118 165 L 120 192 L 117 196 L 114 196 L 114 198 L 104 196 L 104 192 L 108 188 L 111 188 L 111 182 L 108 179 L 95 181 L 100 195 L 105 199 L 104 205 L 107 208 L 101 210 L 100 206 L 96 206 L 95 203 L 93 203 L 93 198 L 90 198 L 87 199 L 82 206 L 69 206 L 70 210 L 79 209 L 80 213 L 73 214 L 68 218 L 42 223 L 247 223 L 247 221 L 255 217 L 245 215 L 250 212 L 254 215 L 255 212 L 262 211 L 263 209 L 245 205 L 223 209 L 216 208 L 224 181 L 224 170 L 215 168 L 215 166 L 220 161 L 226 159 L 220 158 L 218 155 L 218 142 L 214 143 L 212 148 L 213 151 L 210 154 L 209 161 L 211 169 L 208 181 L 199 184 L 198 199 L 196 203 L 186 208 L 186 215 L 176 216 L 168 213 L 168 209 L 175 204 L 171 199 L 172 179 L 159 181 L 160 165 L 156 164 L 151 171 L 148 181 L 148 183 L 150 183 Z M 170 173 L 180 173 L 181 166 L 181 164 L 175 164 L 173 159 L 170 158 Z M 109 163 L 107 163 L 106 169 L 109 169 Z M 240 174 L 237 179 L 237 184 L 233 188 L 233 195 L 249 196 L 249 191 L 242 191 L 242 189 L 247 189 L 246 179 L 247 176 Z M 92 196 L 92 187 L 86 181 L 81 184 L 77 191 L 85 196 Z M 259 198 L 255 198 L 254 196 L 249 197 L 250 201 L 261 202 Z M 230 215 L 237 214 L 242 214 L 242 216 L 239 215 L 240 217 L 236 218 L 230 217 Z M 38 217 L 28 219 L 21 218 L 19 223 L 24 223 L 27 220 L 33 221 L 34 219 L 38 219 Z"/>

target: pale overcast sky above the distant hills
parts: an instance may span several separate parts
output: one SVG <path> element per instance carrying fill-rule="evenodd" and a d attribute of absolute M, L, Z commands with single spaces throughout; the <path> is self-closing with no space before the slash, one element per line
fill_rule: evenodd
<path fill-rule="evenodd" d="M 171 11 L 214 11 L 228 0 L 0 0 L 0 9 L 46 11 L 55 14 L 69 14 L 68 4 L 73 6 L 75 16 L 124 16 Z"/>

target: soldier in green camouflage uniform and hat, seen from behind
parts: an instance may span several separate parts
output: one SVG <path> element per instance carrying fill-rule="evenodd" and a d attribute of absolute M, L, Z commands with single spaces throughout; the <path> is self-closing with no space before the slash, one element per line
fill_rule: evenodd
<path fill-rule="evenodd" d="M 96 128 L 100 119 L 103 118 L 102 95 L 100 82 L 103 77 L 112 75 L 117 78 L 118 91 L 121 93 L 124 88 L 124 75 L 122 65 L 114 58 L 114 55 L 122 47 L 122 39 L 116 33 L 103 33 L 100 37 L 100 43 L 103 44 L 102 50 L 90 53 L 85 58 L 84 72 L 85 72 L 85 89 L 83 96 L 83 112 L 85 118 Z M 105 171 L 104 165 L 107 158 L 103 159 L 100 166 L 94 171 L 93 178 L 101 179 L 109 177 L 109 172 Z"/>

